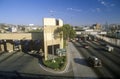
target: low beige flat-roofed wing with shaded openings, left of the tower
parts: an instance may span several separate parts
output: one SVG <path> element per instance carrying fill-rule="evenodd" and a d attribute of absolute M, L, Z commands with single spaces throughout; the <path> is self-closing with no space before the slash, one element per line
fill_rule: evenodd
<path fill-rule="evenodd" d="M 27 48 L 26 48 L 27 47 Z M 0 51 L 16 49 L 24 52 L 43 49 L 43 33 L 0 33 Z"/>

